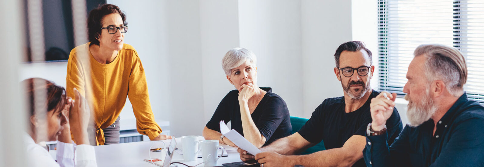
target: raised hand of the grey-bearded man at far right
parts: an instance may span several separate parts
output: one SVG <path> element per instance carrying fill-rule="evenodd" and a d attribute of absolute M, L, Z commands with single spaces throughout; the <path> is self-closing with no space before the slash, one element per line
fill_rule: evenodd
<path fill-rule="evenodd" d="M 373 120 L 371 128 L 373 130 L 379 131 L 384 128 L 388 118 L 392 116 L 395 98 L 396 93 L 390 94 L 383 91 L 377 97 L 371 99 L 370 111 L 371 119 Z"/>

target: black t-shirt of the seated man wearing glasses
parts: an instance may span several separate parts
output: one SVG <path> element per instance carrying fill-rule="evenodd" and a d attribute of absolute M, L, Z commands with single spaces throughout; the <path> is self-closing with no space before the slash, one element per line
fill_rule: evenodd
<path fill-rule="evenodd" d="M 313 112 L 309 121 L 298 131 L 298 133 L 311 143 L 324 141 L 326 150 L 341 148 L 343 144 L 353 135 L 365 136 L 366 127 L 371 123 L 370 102 L 379 93 L 372 91 L 370 97 L 356 111 L 345 112 L 345 97 L 327 98 Z M 388 144 L 403 129 L 402 120 L 396 108 L 387 120 Z M 363 150 L 362 150 L 363 151 Z M 363 158 L 358 160 L 353 167 L 366 167 Z"/>

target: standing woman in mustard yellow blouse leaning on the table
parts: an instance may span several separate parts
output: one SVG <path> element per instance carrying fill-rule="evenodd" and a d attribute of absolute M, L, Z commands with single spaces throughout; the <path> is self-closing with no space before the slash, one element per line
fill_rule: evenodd
<path fill-rule="evenodd" d="M 133 46 L 124 43 L 128 31 L 125 19 L 116 5 L 93 9 L 88 16 L 90 42 L 77 46 L 69 55 L 67 96 L 74 97 L 75 87 L 92 97 L 96 145 L 119 143 L 119 115 L 126 96 L 133 105 L 140 134 L 151 140 L 171 139 L 161 135 L 161 127 L 154 121 L 141 60 Z M 86 54 L 88 58 L 81 57 Z M 83 58 L 89 59 L 88 67 L 82 63 Z M 91 76 L 91 85 L 85 84 L 89 78 L 86 75 Z"/>

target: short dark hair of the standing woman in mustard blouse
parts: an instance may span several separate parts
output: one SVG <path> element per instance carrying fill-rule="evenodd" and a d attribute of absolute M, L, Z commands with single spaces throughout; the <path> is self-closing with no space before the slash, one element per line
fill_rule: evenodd
<path fill-rule="evenodd" d="M 108 14 L 120 14 L 123 24 L 126 26 L 126 14 L 121 12 L 120 8 L 113 4 L 105 4 L 93 9 L 88 16 L 88 38 L 91 44 L 99 45 L 99 35 L 103 26 L 103 18 Z"/>

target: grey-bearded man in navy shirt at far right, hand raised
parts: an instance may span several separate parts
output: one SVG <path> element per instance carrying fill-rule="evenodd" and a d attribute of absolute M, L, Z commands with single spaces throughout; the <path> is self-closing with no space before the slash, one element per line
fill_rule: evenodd
<path fill-rule="evenodd" d="M 483 167 L 484 107 L 464 92 L 468 73 L 464 56 L 439 44 L 420 45 L 413 55 L 403 88 L 409 123 L 388 144 L 385 123 L 396 94 L 382 92 L 373 98 L 373 121 L 363 150 L 366 165 Z"/>

